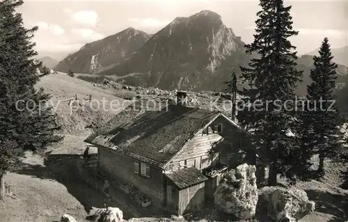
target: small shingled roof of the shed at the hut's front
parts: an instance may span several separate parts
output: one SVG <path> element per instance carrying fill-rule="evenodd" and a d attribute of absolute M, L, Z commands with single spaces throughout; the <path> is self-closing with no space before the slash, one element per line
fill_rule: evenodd
<path fill-rule="evenodd" d="M 179 189 L 184 189 L 208 180 L 208 178 L 195 167 L 182 168 L 175 172 L 166 173 L 166 177 Z"/>

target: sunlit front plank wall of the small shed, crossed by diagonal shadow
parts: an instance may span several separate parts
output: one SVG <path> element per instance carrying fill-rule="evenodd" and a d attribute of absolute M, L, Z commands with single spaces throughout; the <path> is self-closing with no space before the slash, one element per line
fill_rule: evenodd
<path fill-rule="evenodd" d="M 205 204 L 205 182 L 179 191 L 179 214 L 198 212 Z"/>

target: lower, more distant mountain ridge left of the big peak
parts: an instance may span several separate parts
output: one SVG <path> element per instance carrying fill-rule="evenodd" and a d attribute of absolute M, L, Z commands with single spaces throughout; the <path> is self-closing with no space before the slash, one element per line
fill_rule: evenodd
<path fill-rule="evenodd" d="M 54 70 L 97 74 L 127 60 L 150 36 L 134 28 L 125 29 L 102 40 L 87 43 L 60 61 Z"/>

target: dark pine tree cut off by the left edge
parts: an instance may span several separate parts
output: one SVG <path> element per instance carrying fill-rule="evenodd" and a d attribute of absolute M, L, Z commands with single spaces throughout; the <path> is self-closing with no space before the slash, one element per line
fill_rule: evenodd
<path fill-rule="evenodd" d="M 49 95 L 35 90 L 38 81 L 31 42 L 38 28 L 25 29 L 22 15 L 15 12 L 23 1 L 0 2 L 0 198 L 3 200 L 4 175 L 18 166 L 26 150 L 40 152 L 60 141 L 55 136 L 56 115 L 47 106 Z"/>

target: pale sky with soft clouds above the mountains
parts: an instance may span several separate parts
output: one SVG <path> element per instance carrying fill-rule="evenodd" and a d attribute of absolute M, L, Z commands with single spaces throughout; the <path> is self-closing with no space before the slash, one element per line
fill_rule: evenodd
<path fill-rule="evenodd" d="M 331 47 L 348 45 L 348 1 L 285 1 L 292 6 L 293 26 L 299 35 L 292 44 L 299 54 L 317 49 L 324 37 Z M 38 26 L 34 41 L 40 56 L 61 60 L 88 42 L 128 27 L 156 33 L 175 17 L 212 10 L 246 43 L 253 41 L 258 1 L 33 1 L 18 11 L 24 26 Z"/>

